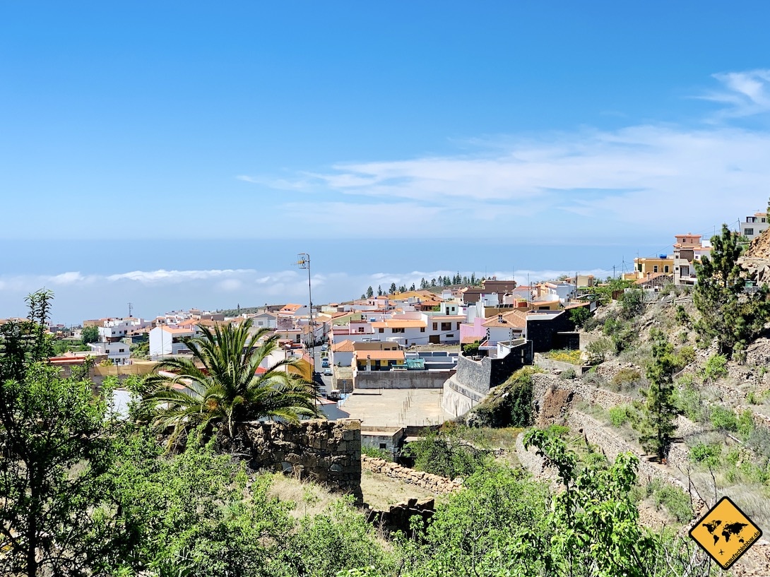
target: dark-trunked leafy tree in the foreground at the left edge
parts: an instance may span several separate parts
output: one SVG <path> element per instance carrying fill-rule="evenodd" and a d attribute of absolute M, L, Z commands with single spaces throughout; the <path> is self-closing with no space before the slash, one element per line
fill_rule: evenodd
<path fill-rule="evenodd" d="M 92 383 L 46 364 L 52 292 L 29 295 L 27 322 L 0 350 L 0 551 L 5 575 L 83 575 L 99 475 L 109 465 L 106 403 Z"/>

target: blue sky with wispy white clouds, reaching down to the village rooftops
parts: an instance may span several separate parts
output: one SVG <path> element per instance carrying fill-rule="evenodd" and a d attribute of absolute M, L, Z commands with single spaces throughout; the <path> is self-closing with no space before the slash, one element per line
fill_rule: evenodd
<path fill-rule="evenodd" d="M 299 299 L 303 251 L 330 300 L 378 274 L 608 270 L 735 223 L 770 194 L 768 16 L 0 2 L 0 316 L 42 284 L 75 319 Z M 421 262 L 383 250 L 407 241 Z"/>

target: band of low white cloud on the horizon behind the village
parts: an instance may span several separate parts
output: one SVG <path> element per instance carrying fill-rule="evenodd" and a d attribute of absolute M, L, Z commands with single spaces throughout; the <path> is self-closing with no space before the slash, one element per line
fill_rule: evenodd
<path fill-rule="evenodd" d="M 457 271 L 374 272 L 354 275 L 333 272 L 313 275 L 313 302 L 343 302 L 357 299 L 371 286 L 387 291 L 391 283 L 419 286 L 420 279 L 454 275 Z M 497 278 L 511 278 L 507 272 L 489 272 Z M 517 270 L 519 284 L 574 274 L 560 270 Z M 610 271 L 581 271 L 598 278 Z M 470 276 L 471 272 L 460 272 Z M 54 322 L 77 324 L 84 319 L 127 315 L 132 302 L 136 315 L 154 318 L 171 310 L 201 308 L 225 309 L 236 305 L 306 302 L 306 277 L 297 271 L 258 272 L 251 269 L 208 271 L 133 271 L 118 275 L 83 275 L 64 272 L 57 275 L 0 275 L 0 318 L 24 316 L 24 297 L 39 288 L 54 292 Z"/>

